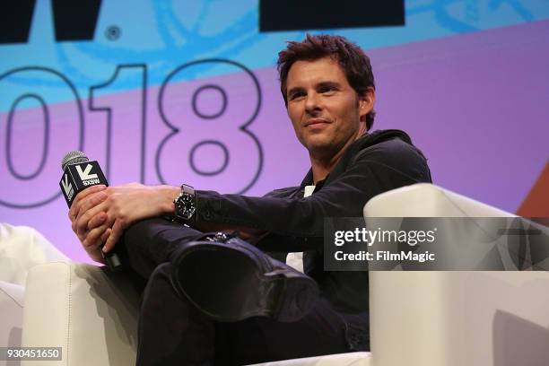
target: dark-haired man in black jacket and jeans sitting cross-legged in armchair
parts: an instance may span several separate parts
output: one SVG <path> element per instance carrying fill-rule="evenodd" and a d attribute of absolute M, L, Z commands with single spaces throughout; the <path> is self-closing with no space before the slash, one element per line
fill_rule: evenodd
<path fill-rule="evenodd" d="M 342 37 L 308 35 L 289 42 L 278 70 L 288 116 L 311 162 L 300 187 L 248 197 L 133 184 L 91 187 L 74 201 L 69 217 L 90 256 L 101 261 L 100 246 L 109 251 L 124 234 L 128 266 L 148 278 L 138 364 L 246 364 L 369 349 L 368 273 L 324 271 L 323 218 L 362 216 L 371 197 L 431 182 L 430 172 L 404 132 L 367 133 L 375 85 L 361 48 Z M 151 219 L 177 215 L 179 204 L 190 228 Z M 176 294 L 170 274 L 180 249 L 202 231 L 234 230 L 269 252 L 304 251 L 305 273 L 321 292 L 307 315 L 224 323 Z"/>

